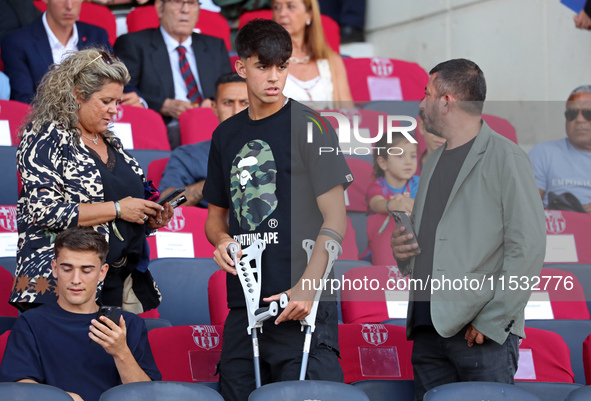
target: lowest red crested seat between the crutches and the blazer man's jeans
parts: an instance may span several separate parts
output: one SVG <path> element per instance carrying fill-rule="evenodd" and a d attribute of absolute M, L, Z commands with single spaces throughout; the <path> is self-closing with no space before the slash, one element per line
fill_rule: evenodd
<path fill-rule="evenodd" d="M 339 324 L 339 348 L 345 383 L 413 378 L 412 341 L 406 328 L 389 324 Z"/>

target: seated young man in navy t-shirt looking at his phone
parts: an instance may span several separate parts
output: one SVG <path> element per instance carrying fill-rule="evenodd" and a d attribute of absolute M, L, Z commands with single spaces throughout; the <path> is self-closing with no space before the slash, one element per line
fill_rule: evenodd
<path fill-rule="evenodd" d="M 116 325 L 101 316 L 97 285 L 109 265 L 105 238 L 75 227 L 55 239 L 51 262 L 58 300 L 23 313 L 16 321 L 0 366 L 0 382 L 42 383 L 74 400 L 98 401 L 122 383 L 161 380 L 142 318 L 123 312 Z"/>

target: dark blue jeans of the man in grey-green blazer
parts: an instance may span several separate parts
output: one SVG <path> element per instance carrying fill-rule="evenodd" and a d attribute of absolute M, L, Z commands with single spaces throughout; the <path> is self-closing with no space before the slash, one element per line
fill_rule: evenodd
<path fill-rule="evenodd" d="M 415 400 L 434 387 L 461 381 L 488 381 L 514 384 L 519 360 L 519 337 L 509 334 L 504 344 L 484 340 L 468 347 L 467 327 L 450 338 L 441 337 L 435 328 L 413 329 L 412 364 Z"/>

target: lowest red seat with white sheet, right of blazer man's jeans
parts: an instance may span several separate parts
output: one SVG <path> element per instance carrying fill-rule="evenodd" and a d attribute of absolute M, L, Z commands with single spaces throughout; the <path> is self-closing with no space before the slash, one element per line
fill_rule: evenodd
<path fill-rule="evenodd" d="M 570 351 L 560 335 L 547 330 L 526 327 L 525 337 L 519 345 L 519 369 L 515 380 L 575 382 L 570 363 Z"/>

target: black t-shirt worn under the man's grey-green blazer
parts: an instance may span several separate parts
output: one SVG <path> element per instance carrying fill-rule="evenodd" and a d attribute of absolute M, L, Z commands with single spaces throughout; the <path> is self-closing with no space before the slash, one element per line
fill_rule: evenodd
<path fill-rule="evenodd" d="M 421 227 L 417 235 L 417 241 L 421 245 L 421 253 L 416 256 L 413 271 L 413 278 L 420 279 L 421 282 L 426 282 L 428 285 L 423 288 L 423 291 L 420 291 L 417 286 L 418 291 L 414 293 L 413 327 L 433 325 L 430 309 L 431 286 L 427 278 L 433 273 L 435 233 L 451 190 L 473 143 L 474 139 L 457 148 L 444 150 L 429 181 Z"/>

